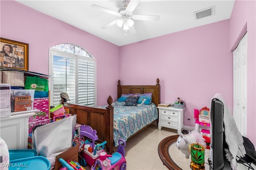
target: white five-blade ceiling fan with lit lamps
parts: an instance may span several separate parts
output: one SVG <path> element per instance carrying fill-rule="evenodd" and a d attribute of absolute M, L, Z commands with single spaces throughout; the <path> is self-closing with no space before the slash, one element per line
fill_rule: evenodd
<path fill-rule="evenodd" d="M 132 12 L 134 9 L 138 6 L 140 3 L 139 0 L 124 0 L 122 2 L 123 7 L 118 10 L 118 12 L 98 6 L 98 5 L 92 5 L 92 8 L 101 10 L 103 12 L 107 12 L 113 15 L 116 15 L 119 17 L 119 19 L 116 19 L 107 25 L 104 25 L 101 27 L 101 29 L 107 29 L 108 27 L 111 27 L 112 25 L 117 24 L 118 27 L 122 27 L 127 32 L 129 30 L 132 34 L 136 33 L 136 30 L 133 26 L 134 21 L 133 20 L 144 20 L 144 21 L 158 21 L 160 19 L 160 16 L 152 16 L 152 15 L 134 15 Z M 125 33 L 126 35 L 126 33 Z"/>

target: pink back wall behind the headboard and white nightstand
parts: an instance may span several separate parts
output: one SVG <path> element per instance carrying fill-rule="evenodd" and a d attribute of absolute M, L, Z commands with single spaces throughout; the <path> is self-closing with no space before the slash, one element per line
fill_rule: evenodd
<path fill-rule="evenodd" d="M 186 102 L 184 125 L 195 127 L 194 108 L 210 107 L 221 93 L 232 109 L 232 52 L 229 20 L 121 47 L 121 84 L 156 84 L 160 102 Z"/>

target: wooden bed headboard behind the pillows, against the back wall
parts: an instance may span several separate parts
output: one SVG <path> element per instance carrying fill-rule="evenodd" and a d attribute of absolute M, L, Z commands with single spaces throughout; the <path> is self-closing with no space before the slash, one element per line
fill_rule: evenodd
<path fill-rule="evenodd" d="M 120 80 L 118 80 L 117 85 L 117 98 L 120 98 L 122 94 L 128 93 L 152 93 L 152 103 L 156 104 L 156 106 L 160 103 L 160 84 L 159 79 L 156 79 L 156 85 L 152 86 L 124 86 L 120 84 Z"/>

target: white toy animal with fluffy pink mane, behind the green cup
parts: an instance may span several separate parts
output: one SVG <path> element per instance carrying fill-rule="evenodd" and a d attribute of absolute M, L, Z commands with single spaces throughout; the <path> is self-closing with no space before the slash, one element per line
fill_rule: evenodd
<path fill-rule="evenodd" d="M 176 146 L 178 150 L 180 150 L 186 159 L 191 155 L 191 144 L 198 143 L 204 147 L 206 147 L 205 139 L 198 131 L 192 131 L 191 134 L 184 135 L 180 133 L 180 136 L 177 139 Z"/>

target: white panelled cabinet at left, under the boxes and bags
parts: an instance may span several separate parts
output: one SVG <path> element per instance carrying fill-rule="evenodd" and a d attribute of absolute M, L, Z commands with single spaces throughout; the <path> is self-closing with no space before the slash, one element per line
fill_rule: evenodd
<path fill-rule="evenodd" d="M 34 112 L 1 118 L 0 135 L 8 149 L 28 149 L 28 118 Z"/>

